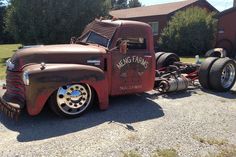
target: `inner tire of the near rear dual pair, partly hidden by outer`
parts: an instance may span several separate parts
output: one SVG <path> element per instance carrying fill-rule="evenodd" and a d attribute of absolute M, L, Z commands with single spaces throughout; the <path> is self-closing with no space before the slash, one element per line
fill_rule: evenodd
<path fill-rule="evenodd" d="M 209 57 L 200 66 L 198 79 L 201 86 L 205 89 L 211 89 L 209 84 L 209 75 L 211 67 L 217 59 L 217 57 Z"/>

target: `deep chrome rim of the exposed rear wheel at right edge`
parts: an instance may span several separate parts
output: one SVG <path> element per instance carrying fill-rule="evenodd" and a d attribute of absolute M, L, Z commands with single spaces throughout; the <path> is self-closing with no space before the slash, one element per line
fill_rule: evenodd
<path fill-rule="evenodd" d="M 235 80 L 235 67 L 233 64 L 227 64 L 221 75 L 221 85 L 224 88 L 229 88 L 232 86 Z"/>

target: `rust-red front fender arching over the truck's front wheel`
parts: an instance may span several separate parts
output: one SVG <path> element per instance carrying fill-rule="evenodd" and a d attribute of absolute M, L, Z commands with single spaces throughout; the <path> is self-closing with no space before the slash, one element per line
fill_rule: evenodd
<path fill-rule="evenodd" d="M 41 112 L 48 98 L 59 87 L 87 83 L 98 94 L 100 108 L 108 107 L 108 83 L 105 73 L 93 66 L 79 64 L 47 64 L 41 69 L 40 64 L 30 65 L 23 69 L 29 76 L 26 86 L 26 104 L 30 115 Z"/>

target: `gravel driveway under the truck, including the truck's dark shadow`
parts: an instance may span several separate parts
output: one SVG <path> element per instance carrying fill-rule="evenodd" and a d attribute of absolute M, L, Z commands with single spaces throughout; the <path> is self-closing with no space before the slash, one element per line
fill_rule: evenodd
<path fill-rule="evenodd" d="M 77 119 L 45 108 L 15 122 L 0 114 L 0 156 L 152 156 L 174 149 L 179 156 L 220 153 L 236 145 L 236 86 L 229 93 L 186 92 L 113 97 Z"/>

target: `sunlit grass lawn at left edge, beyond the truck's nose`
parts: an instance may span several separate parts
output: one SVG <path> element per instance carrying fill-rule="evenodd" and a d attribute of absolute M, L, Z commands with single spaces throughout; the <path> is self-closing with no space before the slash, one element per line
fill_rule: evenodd
<path fill-rule="evenodd" d="M 15 50 L 21 46 L 20 44 L 0 45 L 0 79 L 5 78 L 5 62 L 12 56 Z"/>

